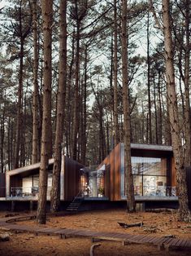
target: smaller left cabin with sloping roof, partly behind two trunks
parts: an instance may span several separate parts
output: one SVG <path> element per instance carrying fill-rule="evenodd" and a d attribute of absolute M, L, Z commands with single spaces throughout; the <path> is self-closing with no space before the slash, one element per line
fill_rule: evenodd
<path fill-rule="evenodd" d="M 52 187 L 52 170 L 54 159 L 49 160 L 47 200 L 50 200 L 50 190 Z M 72 201 L 79 192 L 80 169 L 84 166 L 63 156 L 60 173 L 60 199 L 62 201 Z M 17 201 L 37 201 L 39 183 L 40 163 L 21 167 L 6 173 L 6 199 Z"/>

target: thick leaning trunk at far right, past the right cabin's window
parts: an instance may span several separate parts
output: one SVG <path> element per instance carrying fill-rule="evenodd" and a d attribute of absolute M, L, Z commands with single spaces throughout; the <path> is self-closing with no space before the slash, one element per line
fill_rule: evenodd
<path fill-rule="evenodd" d="M 189 212 L 188 193 L 185 181 L 184 149 L 181 143 L 181 128 L 176 98 L 169 0 L 163 0 L 163 33 L 166 60 L 167 104 L 171 125 L 171 142 L 176 166 L 176 188 L 179 197 L 179 218 L 180 221 L 190 222 L 191 216 Z"/>

